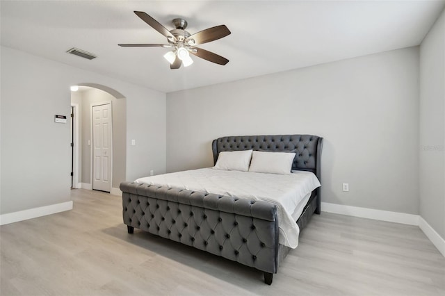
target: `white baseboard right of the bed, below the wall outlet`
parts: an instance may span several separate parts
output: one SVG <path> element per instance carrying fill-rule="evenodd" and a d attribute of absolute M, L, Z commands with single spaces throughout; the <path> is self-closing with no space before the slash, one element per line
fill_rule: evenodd
<path fill-rule="evenodd" d="M 419 215 L 374 210 L 372 208 L 359 208 L 357 206 L 343 206 L 341 204 L 321 203 L 321 211 L 373 220 L 395 222 L 419 226 Z"/>

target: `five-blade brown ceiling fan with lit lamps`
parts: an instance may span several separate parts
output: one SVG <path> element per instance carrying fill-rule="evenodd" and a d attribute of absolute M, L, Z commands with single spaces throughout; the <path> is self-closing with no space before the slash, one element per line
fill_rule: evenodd
<path fill-rule="evenodd" d="M 173 19 L 175 29 L 168 31 L 163 25 L 159 24 L 153 17 L 142 11 L 135 11 L 136 15 L 144 22 L 152 26 L 156 31 L 167 38 L 168 44 L 118 44 L 120 47 L 167 47 L 172 48 L 164 55 L 164 58 L 170 63 L 170 69 L 179 69 L 181 65 L 188 67 L 193 63 L 190 54 L 193 54 L 212 63 L 225 65 L 229 63 L 227 58 L 213 54 L 211 51 L 195 47 L 197 44 L 204 44 L 218 40 L 230 34 L 225 25 L 214 26 L 191 35 L 186 31 L 187 22 L 185 19 Z"/>

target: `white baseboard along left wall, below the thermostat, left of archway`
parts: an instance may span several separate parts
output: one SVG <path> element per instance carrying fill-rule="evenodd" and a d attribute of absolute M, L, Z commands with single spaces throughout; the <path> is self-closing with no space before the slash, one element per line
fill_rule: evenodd
<path fill-rule="evenodd" d="M 63 202 L 60 204 L 51 204 L 49 206 L 40 206 L 39 208 L 30 208 L 29 210 L 0 215 L 0 225 L 29 220 L 36 217 L 42 217 L 70 210 L 72 210 L 72 201 Z"/>

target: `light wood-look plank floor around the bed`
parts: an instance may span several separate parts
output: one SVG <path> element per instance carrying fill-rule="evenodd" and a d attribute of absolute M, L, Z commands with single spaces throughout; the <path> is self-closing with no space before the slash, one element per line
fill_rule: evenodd
<path fill-rule="evenodd" d="M 419 227 L 314 215 L 274 275 L 122 224 L 120 197 L 72 190 L 72 211 L 0 228 L 1 295 L 445 295 Z"/>

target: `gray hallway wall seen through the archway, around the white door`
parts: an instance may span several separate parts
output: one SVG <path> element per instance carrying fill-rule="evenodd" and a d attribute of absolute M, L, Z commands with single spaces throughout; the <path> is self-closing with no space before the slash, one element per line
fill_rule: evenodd
<path fill-rule="evenodd" d="M 73 94 L 75 94 L 74 92 Z M 84 92 L 77 92 L 81 96 L 81 183 L 91 183 L 91 145 L 88 140 L 91 136 L 91 106 L 103 101 L 111 101 L 113 110 L 113 188 L 119 188 L 119 184 L 126 180 L 126 154 L 125 145 L 127 138 L 127 99 L 116 99 L 108 92 L 91 88 Z M 73 100 L 72 100 L 73 101 Z M 73 101 L 74 102 L 74 101 Z"/>

